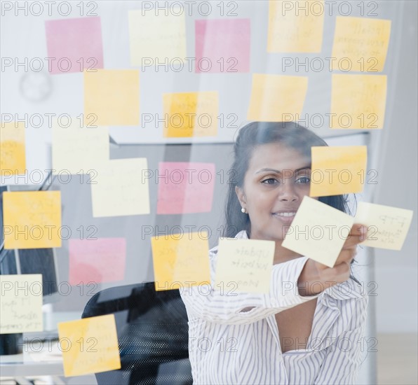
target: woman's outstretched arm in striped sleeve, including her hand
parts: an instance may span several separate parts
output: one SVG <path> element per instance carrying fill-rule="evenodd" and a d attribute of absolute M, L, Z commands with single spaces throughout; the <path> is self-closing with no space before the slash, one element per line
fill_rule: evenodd
<path fill-rule="evenodd" d="M 190 286 L 181 291 L 189 321 L 203 318 L 216 323 L 252 323 L 297 304 L 313 300 L 326 288 L 349 279 L 350 262 L 365 228 L 353 225 L 334 267 L 306 257 L 273 266 L 269 294 L 237 293 L 224 286 Z M 215 282 L 216 254 L 210 255 L 210 276 Z M 223 290 L 222 290 L 223 289 Z"/>

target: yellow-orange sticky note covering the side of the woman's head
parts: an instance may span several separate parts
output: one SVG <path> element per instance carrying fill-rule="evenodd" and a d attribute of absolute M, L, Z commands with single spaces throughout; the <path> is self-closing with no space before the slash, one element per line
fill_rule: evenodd
<path fill-rule="evenodd" d="M 311 197 L 361 193 L 367 172 L 367 146 L 311 148 Z"/>

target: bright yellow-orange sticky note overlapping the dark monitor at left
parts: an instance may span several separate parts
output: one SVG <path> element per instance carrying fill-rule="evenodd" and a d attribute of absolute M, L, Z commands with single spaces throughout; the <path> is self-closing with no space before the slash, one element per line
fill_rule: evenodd
<path fill-rule="evenodd" d="M 4 248 L 61 247 L 61 192 L 3 193 Z"/>

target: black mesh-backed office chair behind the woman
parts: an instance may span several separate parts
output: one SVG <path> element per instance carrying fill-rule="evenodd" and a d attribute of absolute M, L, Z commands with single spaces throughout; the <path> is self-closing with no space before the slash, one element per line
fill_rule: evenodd
<path fill-rule="evenodd" d="M 154 282 L 107 288 L 81 318 L 114 314 L 121 369 L 96 373 L 98 384 L 192 384 L 187 313 L 179 290 Z"/>

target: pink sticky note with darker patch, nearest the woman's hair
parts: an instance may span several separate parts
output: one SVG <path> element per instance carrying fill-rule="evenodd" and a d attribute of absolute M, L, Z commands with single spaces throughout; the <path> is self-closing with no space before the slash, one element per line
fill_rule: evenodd
<path fill-rule="evenodd" d="M 157 214 L 208 213 L 215 187 L 213 163 L 160 162 Z"/>

